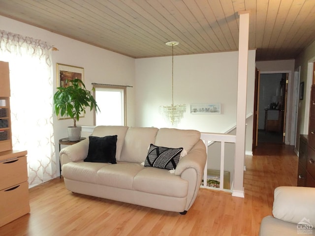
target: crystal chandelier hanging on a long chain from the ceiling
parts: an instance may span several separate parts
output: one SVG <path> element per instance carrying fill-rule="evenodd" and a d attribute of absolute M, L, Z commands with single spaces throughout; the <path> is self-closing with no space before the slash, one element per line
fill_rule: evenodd
<path fill-rule="evenodd" d="M 176 127 L 186 112 L 185 104 L 174 105 L 174 46 L 178 45 L 179 42 L 170 41 L 165 44 L 172 46 L 172 104 L 170 106 L 160 106 L 159 113 L 167 122 L 171 123 L 173 127 Z"/>

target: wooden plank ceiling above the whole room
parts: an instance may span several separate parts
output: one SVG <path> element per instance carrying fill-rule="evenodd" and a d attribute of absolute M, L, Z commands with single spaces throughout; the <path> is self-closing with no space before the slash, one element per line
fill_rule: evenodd
<path fill-rule="evenodd" d="M 237 50 L 244 10 L 256 60 L 294 59 L 315 40 L 315 0 L 0 0 L 0 15 L 132 58 L 170 55 L 174 40 L 174 55 Z"/>

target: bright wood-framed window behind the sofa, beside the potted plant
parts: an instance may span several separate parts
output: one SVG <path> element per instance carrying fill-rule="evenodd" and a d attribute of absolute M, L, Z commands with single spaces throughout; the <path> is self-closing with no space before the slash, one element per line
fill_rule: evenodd
<path fill-rule="evenodd" d="M 126 87 L 93 85 L 100 112 L 95 112 L 95 125 L 126 125 Z"/>

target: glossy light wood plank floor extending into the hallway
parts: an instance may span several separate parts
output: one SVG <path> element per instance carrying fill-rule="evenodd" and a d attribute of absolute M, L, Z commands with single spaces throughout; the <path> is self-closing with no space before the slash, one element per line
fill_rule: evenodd
<path fill-rule="evenodd" d="M 277 186 L 296 186 L 292 146 L 261 146 L 246 156 L 245 198 L 200 189 L 186 215 L 73 194 L 56 178 L 30 189 L 31 213 L 0 236 L 257 236 Z"/>

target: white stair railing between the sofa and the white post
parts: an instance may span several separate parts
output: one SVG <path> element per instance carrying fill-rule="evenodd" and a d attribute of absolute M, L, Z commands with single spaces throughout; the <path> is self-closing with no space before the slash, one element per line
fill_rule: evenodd
<path fill-rule="evenodd" d="M 201 139 L 203 140 L 206 151 L 207 151 L 207 157 L 208 157 L 208 144 L 213 142 L 221 142 L 221 166 L 220 166 L 220 187 L 210 187 L 207 186 L 207 174 L 208 174 L 208 158 L 206 161 L 204 173 L 203 173 L 203 184 L 201 185 L 202 188 L 208 188 L 208 189 L 215 189 L 215 190 L 221 190 L 221 191 L 227 191 L 231 192 L 231 189 L 224 189 L 223 188 L 223 181 L 224 181 L 224 147 L 225 143 L 234 143 L 236 141 L 236 135 L 230 135 L 230 134 L 221 134 L 221 133 L 201 133 Z M 234 160 L 234 158 L 233 158 Z"/>

